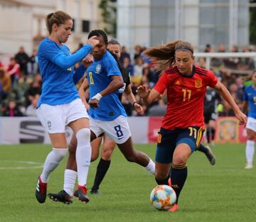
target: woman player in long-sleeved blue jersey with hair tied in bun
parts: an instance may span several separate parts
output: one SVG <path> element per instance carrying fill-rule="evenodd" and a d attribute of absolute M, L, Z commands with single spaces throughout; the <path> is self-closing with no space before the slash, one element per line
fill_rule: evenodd
<path fill-rule="evenodd" d="M 64 11 L 49 13 L 46 18 L 48 38 L 38 48 L 38 63 L 42 75 L 42 94 L 37 104 L 37 114 L 42 125 L 48 131 L 53 150 L 46 157 L 43 172 L 36 184 L 36 199 L 46 201 L 46 189 L 50 173 L 55 170 L 67 152 L 65 126 L 73 129 L 78 140 L 76 161 L 78 165 L 78 184 L 85 189 L 90 165 L 90 129 L 89 117 L 78 95 L 75 83 L 83 76 L 86 67 L 80 65 L 74 72 L 74 65 L 87 56 L 99 43 L 95 36 L 87 44 L 71 55 L 64 45 L 73 27 L 72 18 Z M 80 195 L 81 201 L 89 201 L 86 195 Z"/>

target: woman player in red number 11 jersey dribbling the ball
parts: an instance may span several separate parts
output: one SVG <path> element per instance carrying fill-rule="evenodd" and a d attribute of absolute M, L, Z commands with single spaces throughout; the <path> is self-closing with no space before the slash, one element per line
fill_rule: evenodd
<path fill-rule="evenodd" d="M 204 131 L 203 102 L 206 87 L 219 91 L 232 107 L 239 124 L 245 124 L 247 117 L 213 72 L 193 65 L 195 57 L 190 43 L 177 40 L 149 48 L 144 51 L 144 55 L 156 62 L 162 74 L 154 89 L 140 86 L 137 94 L 145 104 L 150 104 L 167 90 L 166 114 L 156 147 L 155 177 L 158 184 L 169 184 L 174 188 L 176 204 L 169 211 L 176 211 L 178 196 L 186 182 L 186 162 L 200 145 Z"/>

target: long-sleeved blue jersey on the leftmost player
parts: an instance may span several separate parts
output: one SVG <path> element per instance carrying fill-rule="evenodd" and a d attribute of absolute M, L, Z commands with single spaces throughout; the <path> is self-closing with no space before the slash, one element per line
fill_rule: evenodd
<path fill-rule="evenodd" d="M 73 65 L 85 57 L 91 49 L 91 45 L 84 45 L 81 50 L 71 55 L 66 45 L 58 45 L 49 38 L 40 43 L 38 64 L 43 87 L 37 106 L 68 104 L 79 98 L 75 81 L 84 74 L 85 67 L 80 66 L 76 71 L 78 75 L 75 77 Z"/>

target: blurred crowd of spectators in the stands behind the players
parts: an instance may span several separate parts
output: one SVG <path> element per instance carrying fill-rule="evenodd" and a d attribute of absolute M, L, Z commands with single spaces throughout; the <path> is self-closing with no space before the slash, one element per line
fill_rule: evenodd
<path fill-rule="evenodd" d="M 134 55 L 130 55 L 125 46 L 122 47 L 120 62 L 127 68 L 131 75 L 132 91 L 137 101 L 136 89 L 141 84 L 150 88 L 154 87 L 159 75 L 152 62 L 143 55 L 144 47 L 136 45 Z M 214 52 L 211 45 L 206 45 L 205 52 Z M 250 49 L 245 46 L 240 52 L 256 52 L 256 45 Z M 225 45 L 219 45 L 216 52 L 228 52 Z M 233 46 L 230 52 L 239 52 L 237 46 Z M 206 67 L 206 59 L 196 58 L 196 65 Z M 242 96 L 250 73 L 255 70 L 256 58 L 212 58 L 210 69 L 227 87 L 239 106 L 242 104 Z M 0 62 L 0 116 L 36 116 L 36 103 L 41 94 L 41 74 L 38 70 L 36 50 L 31 55 L 21 47 L 14 57 L 10 57 L 9 64 Z M 128 116 L 136 116 L 126 96 L 122 96 L 122 104 Z M 224 101 L 218 101 L 217 111 L 219 116 L 233 116 L 230 106 Z M 242 107 L 241 107 L 242 108 Z M 155 101 L 150 106 L 144 106 L 142 116 L 163 116 L 166 111 L 166 97 Z"/>

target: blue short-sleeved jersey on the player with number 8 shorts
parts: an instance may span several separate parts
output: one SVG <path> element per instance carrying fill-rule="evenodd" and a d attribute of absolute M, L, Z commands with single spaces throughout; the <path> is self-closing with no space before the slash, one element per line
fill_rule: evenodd
<path fill-rule="evenodd" d="M 97 60 L 90 65 L 87 69 L 87 79 L 90 86 L 90 99 L 97 93 L 107 88 L 112 82 L 111 76 L 122 76 L 116 60 L 110 54 L 106 52 L 100 60 Z M 119 92 L 114 91 L 107 96 L 103 96 L 100 99 L 98 108 L 89 109 L 89 115 L 92 118 L 100 119 L 102 121 L 112 121 L 118 116 L 127 116 L 121 101 L 118 99 Z"/>

